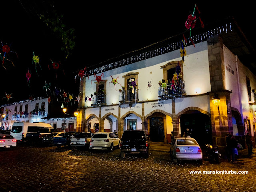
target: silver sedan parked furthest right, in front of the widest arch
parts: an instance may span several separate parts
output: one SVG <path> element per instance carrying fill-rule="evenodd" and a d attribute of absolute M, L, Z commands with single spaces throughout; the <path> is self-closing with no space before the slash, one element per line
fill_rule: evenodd
<path fill-rule="evenodd" d="M 203 163 L 202 150 L 194 138 L 175 138 L 170 147 L 170 156 L 176 163 L 178 160 L 198 160 Z"/>

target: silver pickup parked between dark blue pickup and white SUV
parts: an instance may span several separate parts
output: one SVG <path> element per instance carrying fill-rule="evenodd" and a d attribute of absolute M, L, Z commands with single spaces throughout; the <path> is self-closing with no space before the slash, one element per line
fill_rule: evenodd
<path fill-rule="evenodd" d="M 94 134 L 91 132 L 80 132 L 77 137 L 71 138 L 70 146 L 76 147 L 86 147 L 89 148 L 90 140 Z"/>

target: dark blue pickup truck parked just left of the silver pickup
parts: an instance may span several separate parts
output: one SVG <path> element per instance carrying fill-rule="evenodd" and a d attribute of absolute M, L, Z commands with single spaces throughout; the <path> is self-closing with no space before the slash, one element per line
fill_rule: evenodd
<path fill-rule="evenodd" d="M 60 148 L 62 145 L 70 146 L 71 138 L 77 137 L 79 133 L 80 132 L 69 131 L 69 132 L 65 132 L 64 136 L 63 135 L 55 136 L 53 138 L 53 144 L 56 145 L 58 148 Z"/>

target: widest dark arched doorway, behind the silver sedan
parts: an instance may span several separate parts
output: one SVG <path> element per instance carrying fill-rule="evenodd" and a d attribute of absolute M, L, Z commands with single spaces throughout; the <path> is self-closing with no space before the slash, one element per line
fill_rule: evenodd
<path fill-rule="evenodd" d="M 203 147 L 212 144 L 212 126 L 210 117 L 198 110 L 188 110 L 180 116 L 181 136 L 184 132 L 194 138 Z"/>

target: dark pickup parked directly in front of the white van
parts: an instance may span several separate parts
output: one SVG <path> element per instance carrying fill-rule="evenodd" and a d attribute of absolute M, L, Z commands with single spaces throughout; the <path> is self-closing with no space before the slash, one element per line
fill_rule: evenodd
<path fill-rule="evenodd" d="M 26 140 L 28 141 L 28 143 L 42 144 L 43 138 L 53 132 L 58 131 L 54 128 L 40 128 L 38 129 L 38 132 L 27 133 Z"/>

